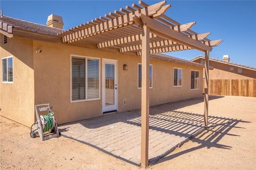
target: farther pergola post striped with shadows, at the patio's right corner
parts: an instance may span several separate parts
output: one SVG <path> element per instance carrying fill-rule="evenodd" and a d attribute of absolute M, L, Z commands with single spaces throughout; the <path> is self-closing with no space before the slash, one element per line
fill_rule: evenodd
<path fill-rule="evenodd" d="M 208 109 L 209 109 L 209 51 L 205 51 L 204 59 L 204 126 L 208 126 Z"/>

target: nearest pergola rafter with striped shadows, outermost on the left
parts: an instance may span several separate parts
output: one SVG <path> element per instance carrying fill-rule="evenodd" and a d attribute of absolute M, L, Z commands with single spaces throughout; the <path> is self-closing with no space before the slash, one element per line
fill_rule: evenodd
<path fill-rule="evenodd" d="M 106 31 L 118 29 L 125 27 L 127 25 L 134 24 L 133 15 L 146 15 L 151 17 L 157 17 L 161 16 L 169 7 L 170 5 L 166 5 L 166 1 L 162 1 L 159 3 L 156 3 L 154 5 L 147 6 L 146 8 L 141 8 L 140 10 L 124 14 L 124 15 L 117 15 L 114 13 L 110 13 L 110 15 L 106 15 L 107 18 L 109 18 L 109 21 L 105 21 L 102 23 L 94 23 L 92 22 L 92 26 L 85 29 L 79 29 L 76 32 L 69 33 L 68 35 L 65 35 L 62 37 L 63 42 L 72 43 L 74 41 L 78 41 L 84 38 L 88 38 L 91 36 L 98 35 L 99 33 L 103 33 Z M 163 8 L 163 10 L 162 10 Z M 93 25 L 95 24 L 95 25 Z"/>

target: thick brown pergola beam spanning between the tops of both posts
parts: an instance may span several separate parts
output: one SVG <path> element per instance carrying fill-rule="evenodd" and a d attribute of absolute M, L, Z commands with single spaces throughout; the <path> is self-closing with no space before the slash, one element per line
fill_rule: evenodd
<path fill-rule="evenodd" d="M 154 19 L 149 18 L 146 15 L 141 14 L 140 18 L 142 19 L 143 23 L 147 24 L 147 27 L 150 28 L 150 31 L 159 37 L 173 40 L 178 44 L 186 45 L 191 48 L 201 50 L 203 52 L 205 50 L 212 50 L 212 47 L 206 46 L 197 40 L 191 39 L 180 32 L 174 31 L 173 29 L 155 21 Z"/>

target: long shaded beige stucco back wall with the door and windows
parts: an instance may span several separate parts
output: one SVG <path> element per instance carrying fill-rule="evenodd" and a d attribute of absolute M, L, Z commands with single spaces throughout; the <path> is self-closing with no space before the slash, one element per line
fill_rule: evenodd
<path fill-rule="evenodd" d="M 37 48 L 42 53 L 35 53 Z M 102 101 L 70 102 L 70 55 L 81 55 L 118 60 L 118 112 L 140 108 L 141 90 L 138 89 L 138 63 L 140 57 L 119 52 L 82 48 L 60 43 L 34 40 L 35 104 L 50 103 L 59 123 L 101 116 Z M 123 64 L 128 70 L 123 70 Z M 150 105 L 168 103 L 202 96 L 202 76 L 199 90 L 190 90 L 190 70 L 202 68 L 150 60 L 153 64 L 153 88 L 150 89 Z M 173 67 L 183 69 L 182 87 L 173 87 Z M 102 69 L 100 68 L 100 84 Z M 101 87 L 102 88 L 102 87 Z M 100 90 L 102 92 L 102 90 Z"/>

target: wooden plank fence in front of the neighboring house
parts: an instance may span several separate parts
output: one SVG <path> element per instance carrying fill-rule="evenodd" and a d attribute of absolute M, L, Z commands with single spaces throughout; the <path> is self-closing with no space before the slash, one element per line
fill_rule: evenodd
<path fill-rule="evenodd" d="M 256 97 L 256 79 L 217 79 L 209 81 L 210 95 Z"/>

